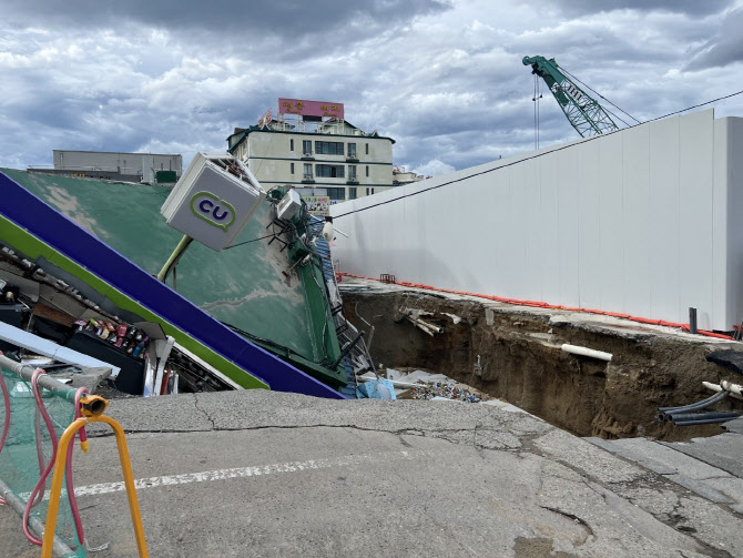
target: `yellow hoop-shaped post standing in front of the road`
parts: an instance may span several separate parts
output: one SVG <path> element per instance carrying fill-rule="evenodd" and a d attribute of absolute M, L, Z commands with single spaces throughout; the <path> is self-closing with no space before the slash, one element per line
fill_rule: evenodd
<path fill-rule="evenodd" d="M 64 467 L 67 465 L 67 448 L 74 438 L 77 432 L 90 423 L 105 423 L 113 429 L 116 436 L 116 446 L 119 447 L 119 460 L 121 470 L 124 475 L 124 486 L 126 487 L 126 498 L 129 499 L 129 510 L 132 515 L 134 526 L 134 537 L 136 538 L 136 548 L 140 558 L 149 558 L 147 545 L 144 540 L 144 528 L 142 527 L 142 516 L 140 515 L 140 505 L 136 501 L 136 489 L 134 487 L 134 475 L 132 464 L 129 459 L 129 449 L 126 448 L 126 436 L 121 425 L 113 418 L 105 415 L 92 417 L 81 417 L 67 427 L 64 434 L 59 440 L 57 448 L 57 459 L 54 460 L 54 475 L 52 476 L 52 486 L 49 494 L 49 507 L 47 508 L 47 523 L 44 525 L 43 545 L 41 547 L 41 558 L 51 558 L 52 544 L 54 540 L 54 529 L 57 527 L 57 514 L 59 511 L 60 498 L 62 496 L 62 480 L 64 479 Z"/>

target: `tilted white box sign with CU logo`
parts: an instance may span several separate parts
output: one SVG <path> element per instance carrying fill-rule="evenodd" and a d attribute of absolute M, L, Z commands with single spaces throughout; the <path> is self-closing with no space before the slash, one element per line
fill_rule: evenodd
<path fill-rule="evenodd" d="M 253 173 L 231 154 L 196 153 L 160 212 L 170 226 L 218 252 L 265 197 Z"/>

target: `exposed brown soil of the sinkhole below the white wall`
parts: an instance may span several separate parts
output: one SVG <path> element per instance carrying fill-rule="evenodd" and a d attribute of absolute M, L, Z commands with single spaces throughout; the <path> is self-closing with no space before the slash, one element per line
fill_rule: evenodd
<path fill-rule="evenodd" d="M 400 308 L 430 312 L 425 321 L 444 328 L 431 337 Z M 344 293 L 346 316 L 374 327 L 372 356 L 384 366 L 441 373 L 517 405 L 578 436 L 647 436 L 684 440 L 720 434 L 713 425 L 676 427 L 658 419 L 658 407 L 685 405 L 711 395 L 701 382 L 740 376 L 704 356 L 704 342 L 576 324 L 550 325 L 550 316 L 518 307 L 449 300 L 411 291 Z M 461 317 L 455 324 L 445 313 Z M 368 338 L 368 332 L 367 332 Z M 613 354 L 611 363 L 560 349 L 570 343 Z M 478 365 L 479 355 L 479 367 Z M 714 410 L 741 410 L 723 402 Z"/>

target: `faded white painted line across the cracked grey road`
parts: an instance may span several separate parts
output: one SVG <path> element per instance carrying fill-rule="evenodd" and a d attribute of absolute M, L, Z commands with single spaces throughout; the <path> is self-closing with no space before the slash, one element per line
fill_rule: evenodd
<path fill-rule="evenodd" d="M 207 483 L 228 478 L 257 477 L 261 475 L 276 475 L 281 473 L 297 473 L 312 469 L 327 469 L 332 467 L 347 467 L 368 461 L 389 459 L 416 459 L 430 452 L 384 452 L 370 455 L 350 455 L 335 459 L 309 459 L 306 461 L 288 461 L 257 467 L 236 467 L 232 469 L 205 470 L 201 473 L 185 473 L 182 475 L 164 475 L 161 477 L 141 478 L 134 480 L 138 490 L 159 486 L 187 485 L 191 483 Z M 78 486 L 74 489 L 77 497 L 98 496 L 101 494 L 120 493 L 125 489 L 124 483 L 101 483 L 98 485 Z"/>

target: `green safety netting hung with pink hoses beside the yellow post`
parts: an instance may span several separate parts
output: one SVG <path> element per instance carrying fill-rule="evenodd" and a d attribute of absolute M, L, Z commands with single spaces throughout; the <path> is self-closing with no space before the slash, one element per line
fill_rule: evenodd
<path fill-rule="evenodd" d="M 24 504 L 28 501 L 33 488 L 39 483 L 39 454 L 43 454 L 43 466 L 45 468 L 52 458 L 52 442 L 44 420 L 38 414 L 37 404 L 31 392 L 31 385 L 14 373 L 0 368 L 6 382 L 10 400 L 10 422 L 6 444 L 0 452 L 0 479 L 18 496 Z M 52 393 L 42 388 L 43 403 L 53 424 L 57 438 L 62 436 L 64 429 L 74 420 L 74 393 Z M 0 395 L 0 428 L 4 427 L 6 402 Z M 38 424 L 38 427 L 37 427 Z M 41 436 L 37 437 L 37 432 Z M 1 435 L 2 430 L 0 430 Z M 40 440 L 40 442 L 38 442 Z M 73 458 L 80 453 L 80 445 L 75 444 Z M 51 486 L 53 469 L 47 478 L 43 488 L 43 498 L 31 510 L 31 515 L 38 517 L 42 523 L 47 521 L 47 508 L 49 504 L 49 489 Z M 57 518 L 55 534 L 59 539 L 72 549 L 65 557 L 85 557 L 85 546 L 78 539 L 74 526 L 70 498 L 62 488 L 59 514 Z M 12 514 L 13 510 L 6 507 L 0 513 Z M 18 528 L 22 529 L 22 520 L 19 518 Z M 39 539 L 42 534 L 31 532 Z"/>

